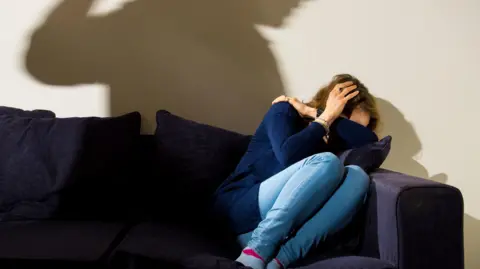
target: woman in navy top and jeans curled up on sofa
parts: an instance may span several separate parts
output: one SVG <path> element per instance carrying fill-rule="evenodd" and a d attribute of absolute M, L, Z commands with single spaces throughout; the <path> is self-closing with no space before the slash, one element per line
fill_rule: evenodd
<path fill-rule="evenodd" d="M 351 75 L 335 76 L 308 104 L 275 99 L 215 195 L 216 212 L 244 247 L 237 261 L 287 268 L 345 227 L 364 203 L 369 177 L 332 152 L 378 141 L 378 121 L 374 97 Z"/>

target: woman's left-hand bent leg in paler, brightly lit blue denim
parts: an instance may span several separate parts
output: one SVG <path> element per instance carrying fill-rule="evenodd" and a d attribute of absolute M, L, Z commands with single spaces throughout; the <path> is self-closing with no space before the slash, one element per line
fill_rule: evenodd
<path fill-rule="evenodd" d="M 258 255 L 264 261 L 276 254 L 292 229 L 301 226 L 320 209 L 343 177 L 343 165 L 331 153 L 316 154 L 295 165 L 299 167 L 283 187 L 275 188 L 278 191 L 267 191 L 270 179 L 261 185 L 264 189 L 260 192 L 262 197 L 259 197 L 261 211 L 266 211 L 268 206 L 271 208 L 253 231 L 246 249 L 252 252 L 249 254 Z M 242 256 L 237 260 L 244 263 Z"/>

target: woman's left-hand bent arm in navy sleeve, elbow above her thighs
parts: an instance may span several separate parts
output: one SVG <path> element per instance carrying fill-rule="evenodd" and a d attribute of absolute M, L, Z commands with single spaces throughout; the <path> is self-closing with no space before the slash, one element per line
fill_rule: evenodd
<path fill-rule="evenodd" d="M 312 122 L 306 128 L 298 126 L 301 117 L 288 102 L 279 102 L 270 108 L 264 119 L 265 129 L 278 161 L 290 166 L 310 155 L 327 151 L 323 140 L 324 127 Z"/>

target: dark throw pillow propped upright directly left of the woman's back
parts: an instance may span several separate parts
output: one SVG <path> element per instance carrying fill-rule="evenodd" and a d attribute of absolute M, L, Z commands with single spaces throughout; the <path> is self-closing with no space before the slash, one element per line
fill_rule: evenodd
<path fill-rule="evenodd" d="M 164 110 L 156 116 L 158 171 L 165 182 L 161 195 L 183 215 L 201 214 L 215 189 L 237 166 L 250 136 L 186 120 Z M 186 211 L 181 212 L 179 208 L 183 207 Z M 159 206 L 158 210 L 165 208 Z"/>

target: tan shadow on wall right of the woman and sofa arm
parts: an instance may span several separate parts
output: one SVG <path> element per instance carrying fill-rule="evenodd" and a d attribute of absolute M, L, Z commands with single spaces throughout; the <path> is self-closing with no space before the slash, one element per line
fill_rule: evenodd
<path fill-rule="evenodd" d="M 414 159 L 422 150 L 422 143 L 402 112 L 387 100 L 377 98 L 377 102 L 383 117 L 381 135 L 393 137 L 392 150 L 384 167 L 446 184 L 448 176 L 445 173 L 429 176 L 427 169 Z M 480 220 L 464 214 L 464 234 L 466 268 L 480 268 L 476 253 L 480 249 Z"/>

